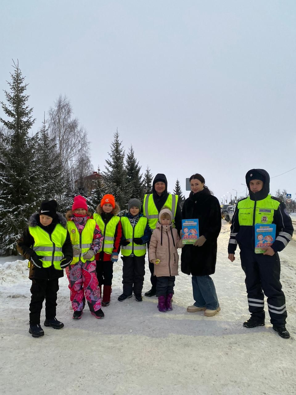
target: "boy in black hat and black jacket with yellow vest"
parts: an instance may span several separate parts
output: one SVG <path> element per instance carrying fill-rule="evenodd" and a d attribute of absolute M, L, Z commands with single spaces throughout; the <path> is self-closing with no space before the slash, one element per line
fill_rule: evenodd
<path fill-rule="evenodd" d="M 41 203 L 39 213 L 33 214 L 23 237 L 17 243 L 19 253 L 28 259 L 32 280 L 30 329 L 33 337 L 44 335 L 40 314 L 45 299 L 45 326 L 60 329 L 64 324 L 56 319 L 58 279 L 73 259 L 73 248 L 66 218 L 56 212 L 55 200 Z"/>

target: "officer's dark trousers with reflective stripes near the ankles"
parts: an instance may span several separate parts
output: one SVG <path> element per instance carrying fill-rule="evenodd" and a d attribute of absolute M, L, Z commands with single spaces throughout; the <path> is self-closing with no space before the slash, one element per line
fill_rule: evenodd
<path fill-rule="evenodd" d="M 249 312 L 252 318 L 264 321 L 265 294 L 270 322 L 273 325 L 285 325 L 287 311 L 285 295 L 279 280 L 281 272 L 279 254 L 275 253 L 273 256 L 255 254 L 248 248 L 242 248 L 240 259 L 245 272 Z"/>

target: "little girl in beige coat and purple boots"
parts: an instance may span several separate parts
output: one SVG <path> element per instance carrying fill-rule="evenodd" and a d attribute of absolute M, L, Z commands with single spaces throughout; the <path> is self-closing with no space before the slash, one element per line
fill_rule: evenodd
<path fill-rule="evenodd" d="M 175 276 L 178 276 L 179 256 L 177 248 L 182 248 L 182 240 L 177 229 L 172 227 L 172 212 L 162 209 L 159 213 L 149 245 L 149 259 L 154 263 L 154 275 L 157 277 L 156 296 L 158 310 L 172 310 Z"/>

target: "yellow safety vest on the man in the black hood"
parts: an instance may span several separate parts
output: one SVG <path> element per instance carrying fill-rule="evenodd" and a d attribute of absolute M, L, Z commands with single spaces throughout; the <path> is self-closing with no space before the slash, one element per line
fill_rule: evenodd
<path fill-rule="evenodd" d="M 175 216 L 177 211 L 178 199 L 179 199 L 178 195 L 169 194 L 167 200 L 165 201 L 165 204 L 163 205 L 164 207 L 170 209 L 170 211 L 173 214 L 173 218 L 172 218 L 173 227 L 175 226 Z M 150 226 L 150 229 L 155 229 L 158 221 L 159 212 L 155 206 L 153 194 L 148 194 L 144 196 L 143 214 L 148 219 L 148 224 Z"/>

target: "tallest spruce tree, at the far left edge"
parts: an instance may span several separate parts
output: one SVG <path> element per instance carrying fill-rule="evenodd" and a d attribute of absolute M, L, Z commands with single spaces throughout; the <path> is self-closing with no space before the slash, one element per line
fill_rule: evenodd
<path fill-rule="evenodd" d="M 27 105 L 19 62 L 13 62 L 9 92 L 4 90 L 7 104 L 0 102 L 9 120 L 0 122 L 9 130 L 9 135 L 0 135 L 0 250 L 16 254 L 16 241 L 24 230 L 28 217 L 36 209 L 36 186 L 32 184 L 32 163 L 36 138 L 28 132 L 35 119 L 33 108 Z"/>

